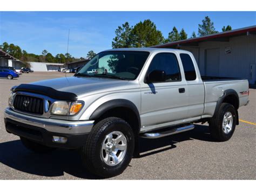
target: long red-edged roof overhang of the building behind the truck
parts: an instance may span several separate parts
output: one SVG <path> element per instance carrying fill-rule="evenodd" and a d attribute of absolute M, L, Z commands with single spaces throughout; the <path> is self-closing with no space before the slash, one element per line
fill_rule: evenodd
<path fill-rule="evenodd" d="M 231 31 L 219 32 L 215 34 L 208 34 L 202 37 L 190 38 L 186 40 L 178 40 L 171 43 L 160 44 L 156 46 L 152 46 L 155 48 L 164 48 L 164 47 L 175 47 L 179 45 L 194 45 L 198 46 L 198 43 L 203 41 L 229 41 L 230 37 L 240 36 L 240 35 L 249 35 L 256 34 L 256 25 L 248 26 L 241 29 L 235 29 Z"/>

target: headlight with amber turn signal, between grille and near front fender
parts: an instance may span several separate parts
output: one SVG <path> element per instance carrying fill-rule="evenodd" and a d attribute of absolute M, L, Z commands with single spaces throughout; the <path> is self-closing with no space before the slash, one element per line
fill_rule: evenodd
<path fill-rule="evenodd" d="M 51 114 L 76 115 L 83 107 L 82 102 L 56 101 L 51 106 Z"/>

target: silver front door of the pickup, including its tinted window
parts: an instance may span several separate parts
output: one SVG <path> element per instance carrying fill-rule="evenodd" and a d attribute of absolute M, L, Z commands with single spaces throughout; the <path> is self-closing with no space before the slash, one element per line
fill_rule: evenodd
<path fill-rule="evenodd" d="M 140 84 L 142 88 L 141 122 L 142 130 L 184 119 L 187 115 L 187 85 L 181 79 L 181 72 L 174 53 L 154 55 L 146 76 L 153 70 L 163 70 L 164 82 Z"/>

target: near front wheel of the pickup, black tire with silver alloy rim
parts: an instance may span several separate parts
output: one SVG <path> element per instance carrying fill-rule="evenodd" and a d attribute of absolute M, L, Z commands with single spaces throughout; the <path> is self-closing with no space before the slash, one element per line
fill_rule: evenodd
<path fill-rule="evenodd" d="M 107 138 L 108 135 L 112 135 L 112 139 Z M 119 142 L 115 144 L 117 137 L 122 140 L 119 138 Z M 114 146 L 104 149 L 103 145 L 110 144 L 111 146 L 109 140 L 113 141 Z M 123 150 L 118 150 L 115 145 L 122 146 Z M 108 148 L 109 151 L 107 151 Z M 92 128 L 86 144 L 82 147 L 82 163 L 91 173 L 103 178 L 110 178 L 121 174 L 126 169 L 132 159 L 133 150 L 134 134 L 131 126 L 120 118 L 105 118 Z"/>

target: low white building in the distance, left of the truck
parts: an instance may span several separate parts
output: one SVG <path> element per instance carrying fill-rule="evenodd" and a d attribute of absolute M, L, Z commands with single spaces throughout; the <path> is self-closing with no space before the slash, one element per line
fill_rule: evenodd
<path fill-rule="evenodd" d="M 49 62 L 29 62 L 30 67 L 34 72 L 55 72 L 61 68 L 66 68 L 64 63 L 49 63 Z"/>

